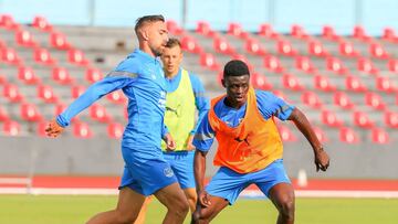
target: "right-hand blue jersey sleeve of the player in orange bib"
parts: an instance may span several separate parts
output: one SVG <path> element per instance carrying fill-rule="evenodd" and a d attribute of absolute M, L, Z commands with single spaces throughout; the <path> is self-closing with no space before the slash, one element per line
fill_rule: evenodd
<path fill-rule="evenodd" d="M 255 94 L 259 110 L 264 119 L 275 116 L 280 120 L 286 120 L 294 109 L 294 106 L 289 105 L 270 92 L 255 90 Z"/>

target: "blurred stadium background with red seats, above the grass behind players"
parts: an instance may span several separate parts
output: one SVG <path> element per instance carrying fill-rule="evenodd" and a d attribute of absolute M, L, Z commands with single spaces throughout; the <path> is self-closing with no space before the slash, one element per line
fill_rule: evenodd
<path fill-rule="evenodd" d="M 116 190 L 122 92 L 87 108 L 57 139 L 44 127 L 137 47 L 137 18 L 163 14 L 182 43 L 184 67 L 209 97 L 224 92 L 223 64 L 239 58 L 255 88 L 305 113 L 332 161 L 326 173 L 315 172 L 311 146 L 279 122 L 296 188 L 398 191 L 397 10 L 395 0 L 0 0 L 0 189 L 76 183 L 42 177 L 115 177 L 98 185 Z M 208 163 L 210 175 L 217 168 Z"/>

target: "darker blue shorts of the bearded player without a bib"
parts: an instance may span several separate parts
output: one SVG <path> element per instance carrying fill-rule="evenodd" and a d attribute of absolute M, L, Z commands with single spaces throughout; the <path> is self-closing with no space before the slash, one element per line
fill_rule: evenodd
<path fill-rule="evenodd" d="M 177 182 L 176 175 L 166 161 L 148 160 L 126 164 L 119 189 L 128 186 L 133 191 L 148 196 L 175 182 Z"/>

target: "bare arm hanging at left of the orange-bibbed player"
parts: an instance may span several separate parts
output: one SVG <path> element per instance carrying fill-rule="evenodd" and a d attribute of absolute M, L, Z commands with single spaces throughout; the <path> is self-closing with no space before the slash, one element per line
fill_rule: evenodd
<path fill-rule="evenodd" d="M 196 150 L 193 159 L 193 172 L 198 192 L 198 204 L 202 206 L 210 205 L 209 195 L 205 191 L 206 154 L 207 151 Z"/>

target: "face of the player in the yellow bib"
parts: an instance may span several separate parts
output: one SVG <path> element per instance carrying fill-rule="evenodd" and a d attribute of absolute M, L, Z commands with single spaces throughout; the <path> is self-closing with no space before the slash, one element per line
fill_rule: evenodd
<path fill-rule="evenodd" d="M 176 74 L 182 61 L 181 49 L 179 45 L 165 47 L 160 58 L 166 74 Z"/>

